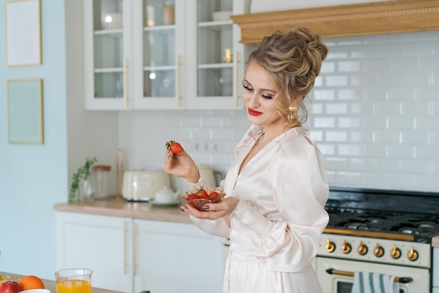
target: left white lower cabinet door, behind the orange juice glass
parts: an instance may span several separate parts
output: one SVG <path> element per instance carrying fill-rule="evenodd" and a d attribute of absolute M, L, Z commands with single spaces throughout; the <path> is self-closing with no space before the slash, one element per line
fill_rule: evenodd
<path fill-rule="evenodd" d="M 55 212 L 56 268 L 90 268 L 94 287 L 133 292 L 130 218 Z"/>

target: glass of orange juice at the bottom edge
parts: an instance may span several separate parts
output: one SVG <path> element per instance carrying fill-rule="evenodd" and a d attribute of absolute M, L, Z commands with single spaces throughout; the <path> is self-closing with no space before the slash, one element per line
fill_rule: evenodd
<path fill-rule="evenodd" d="M 90 268 L 66 268 L 55 272 L 57 293 L 91 293 Z"/>

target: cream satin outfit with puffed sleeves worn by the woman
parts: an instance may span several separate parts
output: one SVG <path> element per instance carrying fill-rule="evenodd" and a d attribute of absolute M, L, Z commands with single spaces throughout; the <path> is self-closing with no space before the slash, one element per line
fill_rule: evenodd
<path fill-rule="evenodd" d="M 302 127 L 292 128 L 238 174 L 260 135 L 254 125 L 245 133 L 220 184 L 227 196 L 240 199 L 234 212 L 215 221 L 191 219 L 230 239 L 224 293 L 320 293 L 311 261 L 329 221 L 323 156 Z M 206 186 L 203 178 L 189 185 Z"/>

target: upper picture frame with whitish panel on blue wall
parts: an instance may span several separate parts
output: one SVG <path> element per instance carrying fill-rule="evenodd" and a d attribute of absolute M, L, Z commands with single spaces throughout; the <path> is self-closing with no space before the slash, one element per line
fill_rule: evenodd
<path fill-rule="evenodd" d="M 41 0 L 5 3 L 6 66 L 41 64 Z"/>

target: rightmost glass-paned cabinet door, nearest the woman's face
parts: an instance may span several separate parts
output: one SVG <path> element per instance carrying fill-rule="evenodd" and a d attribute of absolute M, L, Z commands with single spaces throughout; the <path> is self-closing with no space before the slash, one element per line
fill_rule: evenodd
<path fill-rule="evenodd" d="M 243 13 L 235 7 L 241 1 L 192 0 L 191 11 L 196 18 L 188 20 L 187 107 L 189 109 L 239 109 L 237 83 L 242 59 L 237 55 L 238 27 L 230 18 Z M 191 38 L 191 36 L 194 35 Z M 192 45 L 193 43 L 193 45 Z M 188 49 L 189 50 L 189 49 Z M 241 50 L 242 52 L 242 50 Z"/>

